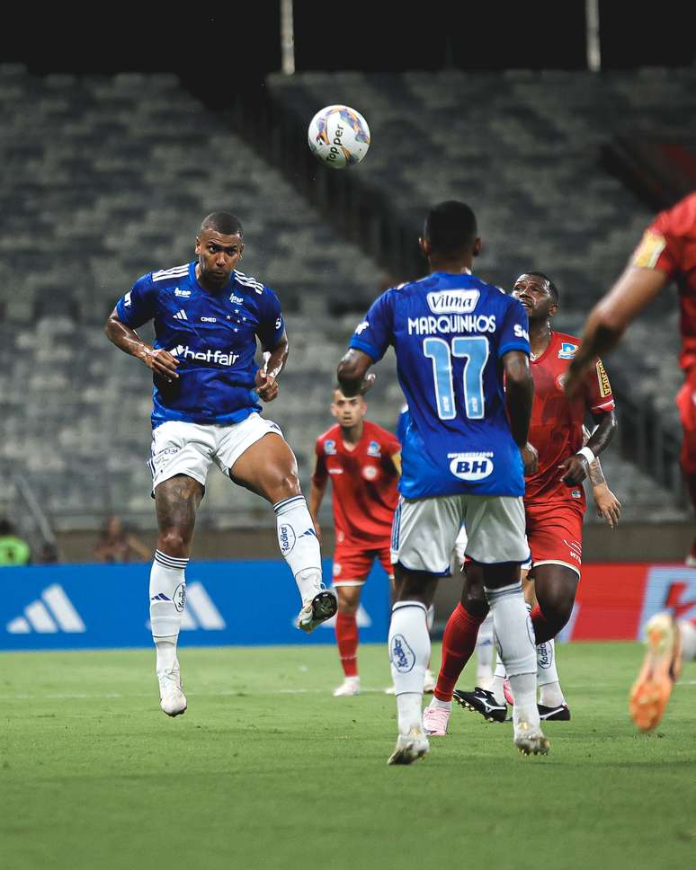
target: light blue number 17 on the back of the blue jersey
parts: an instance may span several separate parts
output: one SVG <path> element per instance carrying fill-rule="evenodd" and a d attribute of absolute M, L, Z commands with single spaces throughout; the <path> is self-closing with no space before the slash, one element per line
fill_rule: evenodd
<path fill-rule="evenodd" d="M 453 420 L 457 416 L 452 383 L 452 357 L 465 357 L 464 404 L 469 420 L 482 420 L 485 411 L 483 395 L 483 370 L 488 361 L 488 339 L 484 335 L 464 338 L 458 335 L 450 342 L 443 338 L 426 338 L 423 352 L 433 360 L 433 379 L 437 413 L 441 420 Z"/>

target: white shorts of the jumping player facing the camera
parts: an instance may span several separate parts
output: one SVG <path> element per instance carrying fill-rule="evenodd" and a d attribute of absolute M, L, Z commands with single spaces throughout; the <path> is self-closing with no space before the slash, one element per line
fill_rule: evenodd
<path fill-rule="evenodd" d="M 147 463 L 152 472 L 152 491 L 174 475 L 188 475 L 205 486 L 208 469 L 214 462 L 224 475 L 236 460 L 269 432 L 282 437 L 281 427 L 258 413 L 239 423 L 222 426 L 170 420 L 152 432 L 152 447 Z"/>

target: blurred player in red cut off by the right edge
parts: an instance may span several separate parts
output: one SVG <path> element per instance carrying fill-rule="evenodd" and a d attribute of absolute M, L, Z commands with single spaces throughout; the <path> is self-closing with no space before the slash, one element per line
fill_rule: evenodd
<path fill-rule="evenodd" d="M 676 403 L 683 426 L 681 465 L 696 509 L 696 191 L 661 211 L 647 227 L 620 278 L 593 307 L 583 341 L 568 370 L 566 390 L 575 395 L 599 353 L 616 347 L 629 324 L 667 284 L 679 288 L 684 384 Z M 696 538 L 687 564 L 696 564 Z M 662 619 L 647 633 L 647 653 L 630 692 L 629 710 L 642 731 L 660 722 L 680 670 L 679 632 Z"/>

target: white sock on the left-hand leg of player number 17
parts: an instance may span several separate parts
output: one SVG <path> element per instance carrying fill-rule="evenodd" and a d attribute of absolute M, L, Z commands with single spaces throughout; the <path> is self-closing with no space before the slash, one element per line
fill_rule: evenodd
<path fill-rule="evenodd" d="M 398 730 L 423 727 L 423 685 L 430 661 L 430 635 L 420 601 L 398 601 L 391 610 L 389 661 L 397 694 Z"/>

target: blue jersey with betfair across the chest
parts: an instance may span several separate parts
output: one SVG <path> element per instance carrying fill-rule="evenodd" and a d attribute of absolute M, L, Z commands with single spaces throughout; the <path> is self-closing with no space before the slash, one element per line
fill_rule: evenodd
<path fill-rule="evenodd" d="M 254 389 L 256 338 L 273 348 L 285 331 L 272 289 L 233 271 L 217 293 L 196 280 L 196 263 L 148 272 L 116 304 L 132 329 L 152 320 L 155 347 L 177 360 L 179 377 L 154 377 L 153 428 L 169 420 L 241 422 L 261 411 Z"/>

